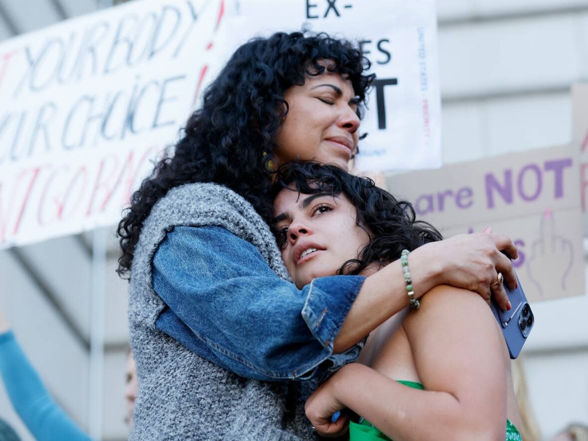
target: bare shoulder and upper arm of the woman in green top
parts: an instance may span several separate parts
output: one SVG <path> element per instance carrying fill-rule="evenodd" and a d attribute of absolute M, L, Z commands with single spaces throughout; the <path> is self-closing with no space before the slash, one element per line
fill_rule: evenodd
<path fill-rule="evenodd" d="M 477 293 L 437 286 L 403 326 L 426 389 L 444 390 L 468 402 L 479 397 L 506 402 L 503 338 L 492 310 Z M 478 404 L 489 409 L 487 402 Z"/>

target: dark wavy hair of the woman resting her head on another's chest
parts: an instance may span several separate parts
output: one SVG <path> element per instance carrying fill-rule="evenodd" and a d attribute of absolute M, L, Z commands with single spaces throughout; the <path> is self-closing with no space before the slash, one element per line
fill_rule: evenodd
<path fill-rule="evenodd" d="M 343 195 L 355 206 L 356 223 L 368 233 L 370 242 L 360 250 L 357 258 L 343 263 L 339 274 L 357 275 L 374 262 L 387 265 L 399 259 L 403 249 L 412 251 L 425 243 L 443 239 L 430 223 L 416 219 L 410 202 L 399 201 L 377 187 L 372 179 L 354 176 L 336 166 L 316 162 L 283 165 L 270 188 L 272 199 L 285 188 L 307 195 Z M 286 244 L 286 237 L 274 223 L 270 221 L 270 226 L 281 248 Z"/>

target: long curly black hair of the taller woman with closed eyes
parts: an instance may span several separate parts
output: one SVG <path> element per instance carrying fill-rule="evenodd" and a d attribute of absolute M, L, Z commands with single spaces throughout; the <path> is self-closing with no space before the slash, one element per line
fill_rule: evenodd
<path fill-rule="evenodd" d="M 284 92 L 303 85 L 307 75 L 326 68 L 350 80 L 356 99 L 365 103 L 375 76 L 355 44 L 327 34 L 278 32 L 240 46 L 206 89 L 201 108 L 192 113 L 183 138 L 155 164 L 131 198 L 118 225 L 122 255 L 117 272 L 130 269 L 143 222 L 169 189 L 192 182 L 225 185 L 249 201 L 265 218 L 266 189 L 272 183 L 268 162 L 279 148 L 276 131 L 288 114 Z M 359 106 L 358 106 L 359 108 Z"/>

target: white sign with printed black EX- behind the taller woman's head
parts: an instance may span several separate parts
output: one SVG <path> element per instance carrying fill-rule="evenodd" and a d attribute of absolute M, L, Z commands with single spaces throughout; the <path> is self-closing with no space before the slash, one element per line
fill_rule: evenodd
<path fill-rule="evenodd" d="M 360 129 L 368 137 L 360 142 L 358 169 L 441 165 L 433 0 L 231 0 L 227 5 L 233 48 L 252 36 L 303 26 L 360 42 L 376 82 Z"/>

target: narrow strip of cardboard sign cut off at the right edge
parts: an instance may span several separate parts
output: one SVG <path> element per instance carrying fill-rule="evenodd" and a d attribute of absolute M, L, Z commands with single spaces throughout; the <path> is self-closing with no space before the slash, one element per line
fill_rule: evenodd
<path fill-rule="evenodd" d="M 580 195 L 584 213 L 584 236 L 588 236 L 588 83 L 572 87 L 572 139 L 580 146 Z"/>

